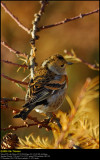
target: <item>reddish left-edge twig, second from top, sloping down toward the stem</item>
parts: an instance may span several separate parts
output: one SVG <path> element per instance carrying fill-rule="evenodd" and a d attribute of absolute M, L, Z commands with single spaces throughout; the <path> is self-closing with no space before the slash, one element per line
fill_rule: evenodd
<path fill-rule="evenodd" d="M 7 48 L 10 52 L 15 53 L 17 56 L 21 56 L 24 58 L 27 58 L 27 54 L 26 53 L 21 53 L 13 48 L 11 48 L 10 46 L 8 46 L 8 44 L 4 41 L 1 41 L 1 45 L 3 45 L 5 48 Z"/>

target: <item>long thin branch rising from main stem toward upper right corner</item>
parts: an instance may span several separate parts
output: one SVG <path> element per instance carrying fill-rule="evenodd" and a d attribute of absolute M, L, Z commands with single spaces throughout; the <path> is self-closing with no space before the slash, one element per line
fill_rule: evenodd
<path fill-rule="evenodd" d="M 79 16 L 76 16 L 76 17 L 66 18 L 63 21 L 60 21 L 60 22 L 57 22 L 57 23 L 54 23 L 54 24 L 51 24 L 51 25 L 41 26 L 41 27 L 38 28 L 38 31 L 41 31 L 41 30 L 44 30 L 44 29 L 48 29 L 48 28 L 52 28 L 52 27 L 56 27 L 56 26 L 59 26 L 61 24 L 65 24 L 67 22 L 71 22 L 71 21 L 74 21 L 74 20 L 77 20 L 77 19 L 82 19 L 82 18 L 84 18 L 86 16 L 89 16 L 89 15 L 92 15 L 92 14 L 98 13 L 98 12 L 100 12 L 100 9 L 96 9 L 96 10 L 94 10 L 92 12 L 80 14 Z"/>

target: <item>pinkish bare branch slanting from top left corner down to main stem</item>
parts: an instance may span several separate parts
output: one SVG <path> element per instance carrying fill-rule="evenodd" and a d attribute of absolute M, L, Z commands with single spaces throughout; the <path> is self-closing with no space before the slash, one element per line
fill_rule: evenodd
<path fill-rule="evenodd" d="M 10 11 L 9 9 L 6 7 L 6 5 L 1 2 L 1 6 L 2 8 L 5 10 L 5 12 L 7 14 L 9 14 L 9 16 L 18 24 L 19 27 L 21 27 L 24 31 L 26 31 L 28 34 L 30 34 L 30 29 L 28 29 L 27 27 L 25 27 L 19 20 L 17 17 L 15 17 Z"/>

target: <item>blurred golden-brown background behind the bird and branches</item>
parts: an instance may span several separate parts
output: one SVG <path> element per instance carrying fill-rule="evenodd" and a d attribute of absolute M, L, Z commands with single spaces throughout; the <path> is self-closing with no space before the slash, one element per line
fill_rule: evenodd
<path fill-rule="evenodd" d="M 34 14 L 40 9 L 38 1 L 5 1 L 7 8 L 28 28 L 32 28 L 32 21 L 34 20 Z M 99 8 L 98 1 L 50 1 L 46 7 L 45 13 L 39 22 L 39 26 L 49 25 L 65 18 L 71 18 L 79 15 L 80 13 L 87 13 Z M 99 62 L 99 14 L 93 14 L 86 16 L 83 19 L 75 20 L 63 25 L 42 30 L 38 33 L 40 39 L 36 41 L 36 61 L 38 65 L 41 62 L 54 54 L 63 54 L 64 50 L 71 51 L 73 49 L 76 55 L 88 63 L 94 64 Z M 12 48 L 30 53 L 30 39 L 24 30 L 22 30 L 1 8 L 1 40 L 5 41 Z M 11 53 L 5 47 L 1 46 L 1 59 L 12 61 L 22 64 L 22 61 Z M 18 67 L 1 63 L 1 73 L 4 73 L 11 78 L 22 80 L 28 74 L 29 70 L 24 71 L 23 68 L 17 72 Z M 68 95 L 73 103 L 80 93 L 81 87 L 85 83 L 87 77 L 94 78 L 98 75 L 98 71 L 91 70 L 84 64 L 74 64 L 67 70 L 69 77 Z M 29 79 L 28 79 L 29 80 Z M 28 81 L 27 80 L 27 81 Z M 24 92 L 17 85 L 1 78 L 1 96 L 6 98 L 20 97 L 24 98 L 26 92 Z M 95 99 L 88 104 L 91 108 L 91 119 L 97 124 L 99 120 L 99 99 Z M 14 108 L 21 108 L 24 102 L 9 102 L 9 106 Z M 68 103 L 64 102 L 61 110 L 67 112 Z M 32 116 L 38 117 L 39 120 L 43 118 L 41 115 L 32 111 Z M 13 114 L 10 110 L 1 111 L 1 123 L 2 128 L 8 125 L 22 125 L 23 121 L 20 119 L 13 119 Z M 6 131 L 6 132 L 9 132 Z M 2 131 L 2 136 L 6 133 Z M 38 129 L 37 127 L 29 127 L 24 129 L 18 129 L 13 131 L 17 133 L 19 137 L 25 137 L 30 133 L 34 133 L 35 136 L 51 136 L 50 132 L 45 129 Z"/>

